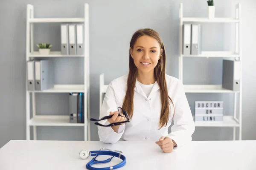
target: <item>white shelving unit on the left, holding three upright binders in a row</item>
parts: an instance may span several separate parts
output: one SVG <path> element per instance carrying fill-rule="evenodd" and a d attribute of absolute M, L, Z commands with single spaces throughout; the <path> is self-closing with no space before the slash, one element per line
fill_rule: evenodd
<path fill-rule="evenodd" d="M 49 55 L 40 55 L 34 51 L 33 26 L 36 23 L 83 23 L 84 24 L 84 55 L 61 55 L 61 51 L 52 51 Z M 61 45 L 61 44 L 60 44 Z M 37 140 L 37 126 L 80 126 L 84 127 L 84 140 L 90 140 L 90 77 L 89 77 L 89 5 L 84 4 L 83 18 L 34 18 L 34 6 L 27 5 L 26 15 L 26 61 L 37 57 L 84 57 L 84 84 L 54 85 L 43 91 L 28 91 L 26 84 L 26 140 L 30 140 L 30 127 L 33 126 L 34 140 Z M 27 79 L 27 74 L 26 74 Z M 27 83 L 27 81 L 26 81 Z M 36 114 L 35 93 L 84 93 L 84 123 L 70 123 L 69 116 L 44 116 Z M 32 100 L 30 99 L 32 94 Z M 30 102 L 32 101 L 32 118 Z"/>

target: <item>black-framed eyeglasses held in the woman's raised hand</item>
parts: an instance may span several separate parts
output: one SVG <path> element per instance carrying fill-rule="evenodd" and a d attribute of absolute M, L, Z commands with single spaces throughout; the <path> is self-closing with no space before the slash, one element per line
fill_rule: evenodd
<path fill-rule="evenodd" d="M 118 107 L 117 110 L 118 110 L 118 116 L 125 117 L 125 118 L 127 119 L 126 121 L 123 121 L 123 122 L 114 122 L 114 123 L 111 123 L 111 124 L 109 124 L 109 125 L 102 125 L 102 124 L 100 124 L 100 123 L 98 122 L 98 121 L 101 121 L 101 120 L 110 119 L 113 115 L 104 116 L 104 117 L 102 117 L 101 119 L 93 119 L 93 118 L 91 118 L 90 121 L 97 121 L 96 123 L 94 123 L 95 125 L 104 126 L 104 127 L 118 126 L 118 125 L 122 125 L 123 123 L 130 122 L 129 116 L 128 116 L 128 114 L 126 113 L 126 111 L 124 111 L 124 110 L 123 110 L 122 108 L 120 108 L 120 107 Z M 120 112 L 121 112 L 121 114 L 120 114 Z"/>

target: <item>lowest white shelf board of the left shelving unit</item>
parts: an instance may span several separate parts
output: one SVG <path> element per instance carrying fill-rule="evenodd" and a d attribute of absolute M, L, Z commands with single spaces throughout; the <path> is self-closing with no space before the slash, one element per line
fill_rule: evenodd
<path fill-rule="evenodd" d="M 69 116 L 36 115 L 29 121 L 30 126 L 84 126 L 84 123 L 70 123 Z"/>

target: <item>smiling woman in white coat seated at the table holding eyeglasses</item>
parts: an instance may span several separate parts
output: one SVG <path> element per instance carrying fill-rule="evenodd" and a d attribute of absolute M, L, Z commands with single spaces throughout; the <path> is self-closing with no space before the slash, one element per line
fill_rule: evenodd
<path fill-rule="evenodd" d="M 118 107 L 128 113 L 130 121 L 112 127 L 98 126 L 99 139 L 117 141 L 156 141 L 164 153 L 192 140 L 195 130 L 192 113 L 182 82 L 165 74 L 166 52 L 159 34 L 140 29 L 130 42 L 129 74 L 114 79 L 107 88 L 99 123 L 123 122 Z M 168 127 L 172 132 L 168 134 Z"/>

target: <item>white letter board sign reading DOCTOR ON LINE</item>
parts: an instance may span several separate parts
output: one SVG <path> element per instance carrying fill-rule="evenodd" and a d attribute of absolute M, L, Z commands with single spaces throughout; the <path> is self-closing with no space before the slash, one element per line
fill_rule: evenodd
<path fill-rule="evenodd" d="M 223 121 L 223 101 L 196 101 L 195 121 Z"/>

